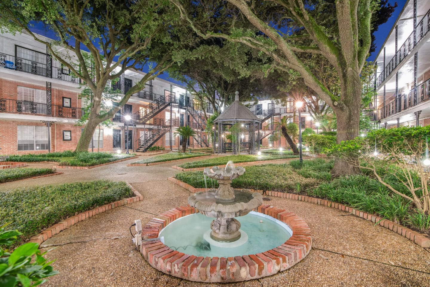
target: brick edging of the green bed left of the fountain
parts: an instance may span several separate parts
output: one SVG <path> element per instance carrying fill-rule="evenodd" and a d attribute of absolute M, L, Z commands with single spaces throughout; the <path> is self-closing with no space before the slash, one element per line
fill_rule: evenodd
<path fill-rule="evenodd" d="M 99 213 L 104 213 L 107 210 L 114 209 L 116 207 L 120 207 L 120 206 L 123 206 L 126 204 L 131 204 L 133 202 L 143 200 L 143 196 L 134 187 L 132 187 L 128 182 L 127 182 L 127 185 L 132 190 L 132 192 L 135 194 L 134 197 L 124 198 L 124 199 L 121 199 L 119 201 L 114 201 L 114 202 L 111 202 L 108 204 L 104 204 L 100 207 L 95 207 L 92 210 L 87 210 L 87 211 L 81 212 L 77 215 L 70 216 L 70 217 L 52 225 L 51 227 L 46 228 L 45 230 L 40 232 L 38 235 L 31 237 L 29 242 L 35 242 L 35 243 L 40 245 L 43 243 L 43 241 L 46 241 L 48 238 L 51 238 L 55 234 L 60 233 L 64 229 L 67 229 L 67 228 L 71 227 L 72 225 L 77 224 L 80 221 L 88 219 L 88 218 L 95 216 Z"/>

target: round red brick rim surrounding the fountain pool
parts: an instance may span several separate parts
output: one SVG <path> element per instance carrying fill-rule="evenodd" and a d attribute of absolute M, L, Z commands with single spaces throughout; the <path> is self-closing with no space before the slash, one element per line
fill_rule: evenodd
<path fill-rule="evenodd" d="M 170 249 L 158 235 L 166 225 L 181 216 L 198 213 L 194 207 L 181 206 L 161 213 L 142 228 L 140 252 L 152 267 L 166 274 L 198 282 L 246 281 L 284 271 L 309 253 L 310 228 L 303 219 L 285 209 L 268 204 L 255 211 L 272 216 L 288 225 L 293 235 L 278 247 L 258 254 L 235 257 L 197 257 Z"/>

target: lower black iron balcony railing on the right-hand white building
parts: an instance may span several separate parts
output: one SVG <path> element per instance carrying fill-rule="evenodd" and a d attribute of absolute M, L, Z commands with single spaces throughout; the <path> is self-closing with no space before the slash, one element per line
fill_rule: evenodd
<path fill-rule="evenodd" d="M 430 79 L 411 89 L 407 94 L 397 95 L 382 108 L 377 110 L 377 119 L 381 120 L 393 114 L 406 110 L 430 99 Z"/>

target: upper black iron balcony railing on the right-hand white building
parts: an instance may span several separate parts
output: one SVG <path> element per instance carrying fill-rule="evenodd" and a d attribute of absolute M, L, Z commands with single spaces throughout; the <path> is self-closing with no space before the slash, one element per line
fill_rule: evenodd
<path fill-rule="evenodd" d="M 384 70 L 376 78 L 376 86 L 380 86 L 385 79 L 394 71 L 394 69 L 409 55 L 409 53 L 420 43 L 430 30 L 430 9 L 418 23 L 415 31 L 409 35 L 405 42 L 399 46 L 396 54 L 385 65 Z M 415 41 L 414 41 L 415 37 Z"/>

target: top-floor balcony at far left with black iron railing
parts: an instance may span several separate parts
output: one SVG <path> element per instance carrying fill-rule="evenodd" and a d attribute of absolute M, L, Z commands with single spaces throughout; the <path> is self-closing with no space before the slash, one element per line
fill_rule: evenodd
<path fill-rule="evenodd" d="M 50 73 L 46 63 L 34 62 L 27 59 L 18 58 L 12 55 L 0 53 L 0 68 L 22 71 L 42 77 L 63 80 L 71 83 L 80 83 L 80 78 L 75 77 L 69 68 L 51 67 Z"/>

